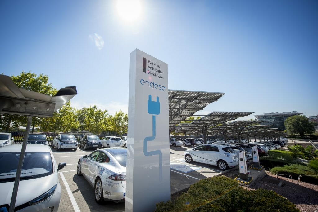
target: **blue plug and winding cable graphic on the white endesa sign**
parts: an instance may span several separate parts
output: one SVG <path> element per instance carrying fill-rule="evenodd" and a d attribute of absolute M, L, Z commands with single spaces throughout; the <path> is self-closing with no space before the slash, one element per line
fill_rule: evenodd
<path fill-rule="evenodd" d="M 160 114 L 160 102 L 159 96 L 157 96 L 156 102 L 151 101 L 151 95 L 148 96 L 148 113 L 152 114 L 152 136 L 145 137 L 143 140 L 143 154 L 145 156 L 159 155 L 159 181 L 162 181 L 162 152 L 160 150 L 147 151 L 147 142 L 153 141 L 156 138 L 156 116 Z"/>

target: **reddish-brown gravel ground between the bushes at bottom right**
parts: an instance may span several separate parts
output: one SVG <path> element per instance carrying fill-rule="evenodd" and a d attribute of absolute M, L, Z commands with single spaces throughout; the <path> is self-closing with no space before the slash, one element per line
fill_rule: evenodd
<path fill-rule="evenodd" d="M 263 179 L 257 179 L 250 189 L 268 189 L 273 190 L 277 194 L 286 197 L 290 202 L 293 202 L 301 212 L 318 212 L 318 185 L 309 184 L 306 182 L 300 182 L 297 184 L 297 180 L 292 180 L 287 177 L 278 176 L 281 181 L 284 182 L 282 187 L 276 184 L 265 182 L 276 180 L 276 175 L 266 171 L 268 176 Z M 234 178 L 239 175 L 239 170 L 235 169 L 224 174 L 224 176 Z M 266 178 L 266 179 L 265 179 Z"/>

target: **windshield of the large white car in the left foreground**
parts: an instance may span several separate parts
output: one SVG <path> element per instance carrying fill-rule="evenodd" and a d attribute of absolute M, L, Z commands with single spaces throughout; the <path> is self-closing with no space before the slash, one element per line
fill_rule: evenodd
<path fill-rule="evenodd" d="M 0 182 L 12 182 L 17 174 L 20 152 L 0 153 Z M 50 152 L 25 152 L 21 180 L 51 175 L 53 163 Z"/>

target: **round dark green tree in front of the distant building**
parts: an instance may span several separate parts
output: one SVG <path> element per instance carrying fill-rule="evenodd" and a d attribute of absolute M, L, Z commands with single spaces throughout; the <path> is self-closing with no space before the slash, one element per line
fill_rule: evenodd
<path fill-rule="evenodd" d="M 306 116 L 290 116 L 284 124 L 289 134 L 299 134 L 301 137 L 315 131 L 315 126 L 309 122 Z"/>

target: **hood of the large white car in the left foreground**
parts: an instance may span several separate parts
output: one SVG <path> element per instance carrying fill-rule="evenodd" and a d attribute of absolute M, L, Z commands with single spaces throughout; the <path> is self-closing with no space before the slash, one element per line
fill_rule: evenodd
<path fill-rule="evenodd" d="M 17 200 L 15 207 L 27 203 L 36 197 L 44 194 L 46 191 L 51 189 L 54 185 L 58 183 L 57 171 L 52 175 L 30 179 L 21 180 L 19 182 L 19 188 L 17 193 Z M 10 205 L 13 182 L 2 182 L 0 183 L 0 205 L 8 204 Z"/>

